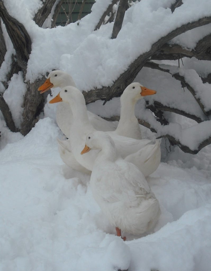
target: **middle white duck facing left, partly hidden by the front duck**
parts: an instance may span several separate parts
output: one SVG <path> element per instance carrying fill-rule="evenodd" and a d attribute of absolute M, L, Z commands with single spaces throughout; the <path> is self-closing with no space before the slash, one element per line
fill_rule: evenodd
<path fill-rule="evenodd" d="M 73 86 L 66 86 L 50 101 L 51 104 L 55 102 L 65 102 L 69 104 L 73 113 L 69 141 L 59 140 L 58 143 L 61 148 L 68 152 L 67 144 L 69 142 L 76 161 L 86 169 L 92 171 L 98 151 L 86 153 L 84 156 L 80 155 L 80 150 L 86 140 L 87 134 L 96 131 L 89 121 L 83 94 L 79 89 Z M 154 143 L 149 139 L 137 140 L 118 135 L 113 131 L 107 132 L 115 141 L 116 148 L 122 158 L 136 164 L 144 176 L 150 175 L 157 169 L 160 164 L 159 140 L 156 140 Z"/>

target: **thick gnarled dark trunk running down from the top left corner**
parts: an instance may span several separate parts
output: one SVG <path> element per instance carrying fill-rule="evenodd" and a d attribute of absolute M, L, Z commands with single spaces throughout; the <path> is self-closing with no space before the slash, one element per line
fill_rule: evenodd
<path fill-rule="evenodd" d="M 53 2 L 51 2 L 51 4 L 53 4 Z M 15 63 L 14 59 L 14 65 L 12 65 L 10 75 L 13 74 L 14 70 L 18 70 L 16 66 L 18 65 L 23 71 L 25 79 L 27 62 L 31 53 L 30 36 L 28 35 L 25 27 L 8 14 L 2 0 L 0 0 L 0 17 L 4 21 L 17 56 L 17 64 Z M 39 18 L 39 16 L 37 18 Z M 21 133 L 23 135 L 26 135 L 34 126 L 35 122 L 37 121 L 36 116 L 43 108 L 43 96 L 37 91 L 39 84 L 40 80 L 36 80 L 33 83 L 30 83 L 29 81 L 27 82 L 27 92 L 25 93 L 23 103 L 23 123 L 21 124 Z M 3 110 L 6 110 L 4 112 L 4 116 L 7 116 L 9 108 L 4 107 Z"/>

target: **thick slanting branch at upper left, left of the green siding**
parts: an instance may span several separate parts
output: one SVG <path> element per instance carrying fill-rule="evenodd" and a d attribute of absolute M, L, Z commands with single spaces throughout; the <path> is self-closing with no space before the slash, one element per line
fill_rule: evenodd
<path fill-rule="evenodd" d="M 38 12 L 34 16 L 34 21 L 40 27 L 43 25 L 44 21 L 48 18 L 48 15 L 51 13 L 51 9 L 55 4 L 56 0 L 42 0 L 43 5 L 38 10 Z"/>

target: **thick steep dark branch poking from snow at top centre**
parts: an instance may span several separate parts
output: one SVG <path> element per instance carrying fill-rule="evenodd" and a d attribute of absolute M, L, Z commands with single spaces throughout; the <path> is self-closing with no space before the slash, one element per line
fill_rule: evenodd
<path fill-rule="evenodd" d="M 125 16 L 125 11 L 128 8 L 128 0 L 120 0 L 119 1 L 119 7 L 118 10 L 116 12 L 116 19 L 113 25 L 113 31 L 112 31 L 112 35 L 111 38 L 116 38 L 119 31 L 122 28 L 122 22 Z"/>

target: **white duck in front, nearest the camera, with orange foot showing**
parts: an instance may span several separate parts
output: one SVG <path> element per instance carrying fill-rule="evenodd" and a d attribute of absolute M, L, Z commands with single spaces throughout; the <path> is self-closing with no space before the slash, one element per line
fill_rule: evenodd
<path fill-rule="evenodd" d="M 95 131 L 87 135 L 81 155 L 96 150 L 99 152 L 90 188 L 117 236 L 125 241 L 121 231 L 137 235 L 152 230 L 160 216 L 160 206 L 144 175 L 122 159 L 108 133 Z"/>

